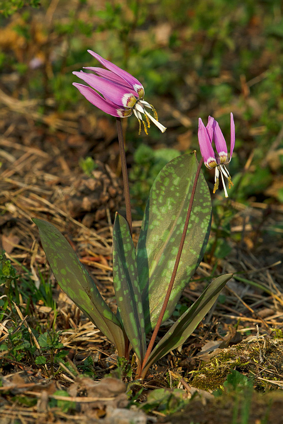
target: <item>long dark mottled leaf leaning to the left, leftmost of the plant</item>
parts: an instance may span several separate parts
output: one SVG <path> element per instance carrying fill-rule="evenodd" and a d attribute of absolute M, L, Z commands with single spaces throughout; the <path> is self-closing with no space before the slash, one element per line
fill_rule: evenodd
<path fill-rule="evenodd" d="M 33 219 L 33 222 L 39 228 L 42 247 L 62 290 L 115 344 L 119 356 L 124 356 L 121 324 L 102 299 L 85 266 L 54 225 L 41 219 Z"/>

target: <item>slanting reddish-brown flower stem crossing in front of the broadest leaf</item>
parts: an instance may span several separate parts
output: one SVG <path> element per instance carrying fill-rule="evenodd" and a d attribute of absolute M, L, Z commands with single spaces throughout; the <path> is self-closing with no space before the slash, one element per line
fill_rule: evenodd
<path fill-rule="evenodd" d="M 190 195 L 190 199 L 189 199 L 189 207 L 188 207 L 187 217 L 186 217 L 186 221 L 185 221 L 185 225 L 184 225 L 184 230 L 183 230 L 179 250 L 178 250 L 178 253 L 177 253 L 177 256 L 176 256 L 176 261 L 175 261 L 175 265 L 174 265 L 174 268 L 173 268 L 171 280 L 170 280 L 170 283 L 169 283 L 169 287 L 168 287 L 168 290 L 167 290 L 167 293 L 166 293 L 166 296 L 165 296 L 165 299 L 164 299 L 162 309 L 160 311 L 160 315 L 158 317 L 156 327 L 155 327 L 154 332 L 151 336 L 151 339 L 150 339 L 150 342 L 149 342 L 149 345 L 148 345 L 148 348 L 147 348 L 147 351 L 146 351 L 146 354 L 145 354 L 145 357 L 144 357 L 144 360 L 143 360 L 143 363 L 142 363 L 141 373 L 140 373 L 140 375 L 142 377 L 144 377 L 142 375 L 142 370 L 143 370 L 143 368 L 146 364 L 146 361 L 148 360 L 149 355 L 151 354 L 157 333 L 160 329 L 160 326 L 161 326 L 161 323 L 162 323 L 162 320 L 163 320 L 163 317 L 164 317 L 164 314 L 165 314 L 165 311 L 166 311 L 166 308 L 167 308 L 167 305 L 168 305 L 168 302 L 169 302 L 169 298 L 170 298 L 170 295 L 171 295 L 171 292 L 172 292 L 173 284 L 174 284 L 174 281 L 175 281 L 175 278 L 176 278 L 177 269 L 178 269 L 178 266 L 179 266 L 179 262 L 180 262 L 180 258 L 181 258 L 181 254 L 182 254 L 182 250 L 183 250 L 183 247 L 184 247 L 185 238 L 186 238 L 186 234 L 187 234 L 187 230 L 188 230 L 188 226 L 189 226 L 189 217 L 190 217 L 190 213 L 191 213 L 191 209 L 192 209 L 194 193 L 195 193 L 195 190 L 196 190 L 196 185 L 197 185 L 199 172 L 200 172 L 200 168 L 201 168 L 202 164 L 203 164 L 203 158 L 201 158 L 201 160 L 199 161 L 199 164 L 198 164 L 198 167 L 197 167 L 197 170 L 196 170 L 196 173 L 195 173 L 195 177 L 194 177 L 194 181 L 193 181 L 193 185 L 192 185 L 192 189 L 191 189 L 191 195 Z"/>

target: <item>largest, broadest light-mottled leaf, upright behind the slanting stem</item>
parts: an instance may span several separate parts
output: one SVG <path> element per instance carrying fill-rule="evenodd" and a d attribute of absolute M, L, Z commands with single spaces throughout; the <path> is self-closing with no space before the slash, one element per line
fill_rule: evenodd
<path fill-rule="evenodd" d="M 150 190 L 137 245 L 146 332 L 156 326 L 164 302 L 184 229 L 196 169 L 194 154 L 178 156 L 160 171 Z M 202 259 L 210 224 L 210 194 L 200 172 L 186 240 L 163 321 L 172 315 L 182 291 Z"/>

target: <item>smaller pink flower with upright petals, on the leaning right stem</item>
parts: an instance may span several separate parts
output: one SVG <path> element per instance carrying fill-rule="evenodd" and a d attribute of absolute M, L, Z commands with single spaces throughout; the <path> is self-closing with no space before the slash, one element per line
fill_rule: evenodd
<path fill-rule="evenodd" d="M 213 188 L 213 193 L 215 193 L 215 191 L 219 187 L 219 172 L 220 172 L 222 182 L 223 182 L 225 197 L 228 197 L 228 193 L 226 190 L 223 175 L 228 179 L 229 188 L 231 188 L 231 185 L 233 185 L 230 174 L 227 168 L 225 167 L 225 165 L 229 164 L 229 162 L 231 161 L 234 146 L 235 146 L 235 124 L 234 124 L 232 113 L 230 114 L 230 117 L 231 117 L 231 145 L 230 145 L 229 160 L 228 160 L 228 153 L 227 153 L 227 145 L 218 122 L 215 121 L 215 119 L 212 118 L 212 116 L 209 116 L 208 123 L 205 127 L 202 120 L 198 118 L 198 134 L 197 134 L 198 143 L 200 147 L 201 156 L 203 157 L 204 165 L 206 166 L 206 168 L 210 170 L 215 168 L 215 184 Z M 217 156 L 215 156 L 215 153 L 212 147 L 212 141 L 214 141 L 215 143 Z"/>

